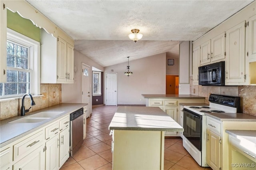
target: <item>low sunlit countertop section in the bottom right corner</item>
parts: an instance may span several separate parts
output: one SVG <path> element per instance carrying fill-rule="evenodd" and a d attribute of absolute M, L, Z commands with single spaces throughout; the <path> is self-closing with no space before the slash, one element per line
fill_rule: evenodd
<path fill-rule="evenodd" d="M 234 136 L 240 141 L 252 142 L 256 144 L 256 130 L 225 130 L 226 133 Z"/>

